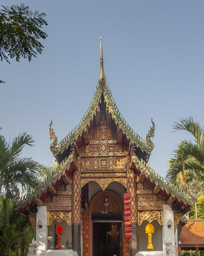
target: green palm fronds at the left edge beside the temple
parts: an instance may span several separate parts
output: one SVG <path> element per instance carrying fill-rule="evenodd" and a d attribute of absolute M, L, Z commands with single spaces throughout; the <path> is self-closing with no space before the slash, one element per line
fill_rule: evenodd
<path fill-rule="evenodd" d="M 6 196 L 17 199 L 19 185 L 22 189 L 29 189 L 34 188 L 38 183 L 36 180 L 38 163 L 31 158 L 20 157 L 25 145 L 32 147 L 33 142 L 33 138 L 25 132 L 11 142 L 7 142 L 0 134 L 0 195 L 4 189 Z"/>

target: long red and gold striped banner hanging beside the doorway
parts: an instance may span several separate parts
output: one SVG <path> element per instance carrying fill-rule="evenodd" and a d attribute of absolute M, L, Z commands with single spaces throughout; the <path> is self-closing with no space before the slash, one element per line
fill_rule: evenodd
<path fill-rule="evenodd" d="M 124 226 L 127 238 L 132 237 L 130 193 L 124 194 Z"/>

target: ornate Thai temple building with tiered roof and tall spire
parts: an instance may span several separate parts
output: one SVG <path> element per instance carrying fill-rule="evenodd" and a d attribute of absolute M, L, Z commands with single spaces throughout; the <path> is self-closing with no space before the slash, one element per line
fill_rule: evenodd
<path fill-rule="evenodd" d="M 59 143 L 49 126 L 57 170 L 18 202 L 36 234 L 29 255 L 177 255 L 177 226 L 194 198 L 150 168 L 154 122 L 143 140 L 124 120 L 106 83 L 102 42 L 100 51 L 80 123 Z"/>

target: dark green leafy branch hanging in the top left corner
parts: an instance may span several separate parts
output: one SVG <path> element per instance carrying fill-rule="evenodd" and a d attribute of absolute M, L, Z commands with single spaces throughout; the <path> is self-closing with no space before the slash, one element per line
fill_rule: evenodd
<path fill-rule="evenodd" d="M 9 62 L 8 58 L 27 58 L 29 61 L 43 51 L 40 39 L 47 38 L 41 30 L 47 22 L 45 13 L 31 12 L 29 6 L 2 6 L 0 12 L 0 58 Z"/>

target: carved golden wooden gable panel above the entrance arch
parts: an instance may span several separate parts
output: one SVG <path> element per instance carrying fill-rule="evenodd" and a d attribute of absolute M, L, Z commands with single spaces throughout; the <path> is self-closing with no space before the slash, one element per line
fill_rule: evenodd
<path fill-rule="evenodd" d="M 98 182 L 101 179 L 99 185 L 105 189 L 111 181 L 110 178 L 126 186 L 124 179 L 128 148 L 117 143 L 117 131 L 112 125 L 103 121 L 94 127 L 89 135 L 89 144 L 80 148 L 79 154 L 82 186 L 91 180 Z"/>

